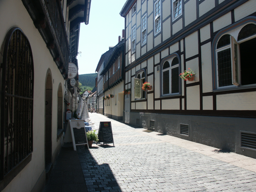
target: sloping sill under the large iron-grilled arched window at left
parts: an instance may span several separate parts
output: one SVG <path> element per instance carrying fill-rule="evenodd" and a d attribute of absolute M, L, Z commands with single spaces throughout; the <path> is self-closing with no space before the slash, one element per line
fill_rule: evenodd
<path fill-rule="evenodd" d="M 5 175 L 3 180 L 0 181 L 0 191 L 4 190 L 5 187 L 22 171 L 22 169 L 31 161 L 32 152 L 29 154 L 26 159 L 23 159 L 15 168 L 12 169 L 9 173 Z"/>

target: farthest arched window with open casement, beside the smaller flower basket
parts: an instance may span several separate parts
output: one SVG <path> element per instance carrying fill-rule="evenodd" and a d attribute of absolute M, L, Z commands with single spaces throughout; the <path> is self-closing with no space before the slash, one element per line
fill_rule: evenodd
<path fill-rule="evenodd" d="M 134 85 L 134 91 L 133 91 L 133 95 L 134 98 L 137 99 L 145 99 L 145 92 L 142 90 L 142 84 L 145 83 L 146 78 L 145 78 L 145 71 L 139 71 L 139 73 L 137 73 L 135 75 L 135 78 L 133 79 L 133 85 Z"/>

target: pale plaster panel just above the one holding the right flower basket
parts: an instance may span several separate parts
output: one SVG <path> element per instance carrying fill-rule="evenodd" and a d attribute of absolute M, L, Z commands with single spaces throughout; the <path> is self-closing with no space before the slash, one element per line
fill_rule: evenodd
<path fill-rule="evenodd" d="M 197 31 L 185 38 L 186 58 L 198 54 L 198 34 Z"/>

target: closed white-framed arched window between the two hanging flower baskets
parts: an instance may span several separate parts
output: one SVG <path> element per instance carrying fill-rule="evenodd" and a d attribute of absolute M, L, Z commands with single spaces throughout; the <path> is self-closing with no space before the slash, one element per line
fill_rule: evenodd
<path fill-rule="evenodd" d="M 161 95 L 180 93 L 180 62 L 178 55 L 173 55 L 161 64 Z"/>

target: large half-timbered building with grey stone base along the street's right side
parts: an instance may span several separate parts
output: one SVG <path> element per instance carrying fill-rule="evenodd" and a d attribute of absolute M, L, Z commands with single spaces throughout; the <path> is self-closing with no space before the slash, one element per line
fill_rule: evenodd
<path fill-rule="evenodd" d="M 255 158 L 255 0 L 127 0 L 120 14 L 127 122 Z"/>

